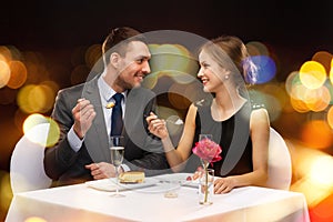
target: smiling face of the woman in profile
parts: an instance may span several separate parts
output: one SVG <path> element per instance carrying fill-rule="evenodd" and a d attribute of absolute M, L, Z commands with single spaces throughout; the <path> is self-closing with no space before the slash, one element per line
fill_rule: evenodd
<path fill-rule="evenodd" d="M 216 61 L 205 51 L 202 50 L 199 54 L 200 70 L 198 78 L 201 79 L 203 91 L 218 92 L 223 88 L 223 80 L 230 72 L 218 64 Z"/>

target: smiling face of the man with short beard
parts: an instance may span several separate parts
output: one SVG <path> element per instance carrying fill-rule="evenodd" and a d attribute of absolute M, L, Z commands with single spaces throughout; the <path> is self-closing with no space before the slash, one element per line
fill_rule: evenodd
<path fill-rule="evenodd" d="M 150 73 L 150 58 L 151 54 L 145 43 L 130 42 L 125 56 L 120 59 L 117 84 L 124 90 L 140 87 L 143 78 Z"/>

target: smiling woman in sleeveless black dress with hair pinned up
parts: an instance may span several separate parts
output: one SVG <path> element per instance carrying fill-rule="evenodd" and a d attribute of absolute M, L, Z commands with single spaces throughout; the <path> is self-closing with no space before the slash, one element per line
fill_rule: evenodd
<path fill-rule="evenodd" d="M 215 193 L 244 185 L 264 186 L 268 179 L 270 121 L 264 108 L 252 109 L 245 83 L 255 82 L 255 65 L 243 42 L 220 37 L 205 43 L 199 53 L 198 78 L 213 97 L 194 102 L 186 114 L 184 131 L 174 149 L 165 121 L 154 113 L 147 118 L 151 133 L 161 138 L 173 171 L 195 171 L 200 164 L 192 148 L 200 133 L 213 134 L 222 148 L 222 160 L 211 165 Z"/>

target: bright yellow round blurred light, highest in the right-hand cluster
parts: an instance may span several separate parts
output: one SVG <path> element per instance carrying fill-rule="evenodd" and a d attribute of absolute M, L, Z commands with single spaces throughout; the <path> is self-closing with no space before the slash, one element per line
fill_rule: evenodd
<path fill-rule="evenodd" d="M 326 81 L 325 68 L 316 61 L 307 61 L 300 69 L 301 82 L 309 89 L 317 89 Z"/>

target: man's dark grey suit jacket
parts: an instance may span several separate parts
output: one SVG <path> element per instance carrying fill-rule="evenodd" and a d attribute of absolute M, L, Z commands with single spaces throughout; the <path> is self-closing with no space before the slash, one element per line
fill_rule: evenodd
<path fill-rule="evenodd" d="M 74 85 L 59 91 L 52 118 L 59 123 L 60 140 L 46 149 L 46 173 L 54 181 L 53 185 L 79 183 L 92 180 L 90 170 L 84 168 L 92 162 L 111 162 L 108 132 L 98 78 L 85 84 Z M 94 105 L 97 117 L 85 134 L 84 142 L 74 152 L 68 142 L 68 131 L 74 123 L 72 109 L 79 98 L 85 98 Z M 127 97 L 124 113 L 124 163 L 131 170 L 144 170 L 147 175 L 154 175 L 169 168 L 161 141 L 151 135 L 147 129 L 145 114 L 155 111 L 154 94 L 147 89 L 132 89 Z"/>

